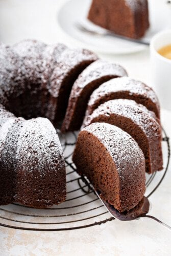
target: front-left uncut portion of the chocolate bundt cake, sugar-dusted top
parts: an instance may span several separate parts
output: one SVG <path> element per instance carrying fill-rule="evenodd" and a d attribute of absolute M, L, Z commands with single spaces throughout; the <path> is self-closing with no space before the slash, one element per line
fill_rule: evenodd
<path fill-rule="evenodd" d="M 46 118 L 17 118 L 0 106 L 0 204 L 35 208 L 66 198 L 65 161 L 58 135 Z"/>

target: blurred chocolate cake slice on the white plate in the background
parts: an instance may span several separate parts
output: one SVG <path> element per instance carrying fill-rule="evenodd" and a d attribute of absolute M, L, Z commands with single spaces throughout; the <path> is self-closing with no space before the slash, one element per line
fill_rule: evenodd
<path fill-rule="evenodd" d="M 140 38 L 149 28 L 148 0 L 92 0 L 88 19 L 118 35 Z"/>

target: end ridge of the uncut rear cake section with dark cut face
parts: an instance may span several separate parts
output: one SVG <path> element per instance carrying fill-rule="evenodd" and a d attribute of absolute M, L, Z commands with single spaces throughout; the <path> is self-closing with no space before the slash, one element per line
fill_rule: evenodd
<path fill-rule="evenodd" d="M 75 80 L 95 60 L 97 60 L 97 56 L 85 49 L 66 48 L 56 57 L 50 78 L 51 99 L 48 102 L 49 104 L 55 102 L 55 112 L 50 116 L 55 124 L 65 115 L 68 98 Z"/>

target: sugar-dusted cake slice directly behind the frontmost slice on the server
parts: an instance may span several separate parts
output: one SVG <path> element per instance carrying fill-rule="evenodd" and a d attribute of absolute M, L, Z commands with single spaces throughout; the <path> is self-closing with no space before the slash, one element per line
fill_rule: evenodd
<path fill-rule="evenodd" d="M 145 156 L 146 172 L 151 174 L 163 168 L 161 127 L 154 115 L 134 100 L 109 100 L 94 110 L 85 125 L 110 123 L 130 134 Z"/>

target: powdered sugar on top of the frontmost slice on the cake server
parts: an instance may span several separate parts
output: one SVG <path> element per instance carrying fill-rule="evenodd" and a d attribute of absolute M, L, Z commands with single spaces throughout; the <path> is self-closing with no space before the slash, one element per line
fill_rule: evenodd
<path fill-rule="evenodd" d="M 92 133 L 104 144 L 122 179 L 124 179 L 127 165 L 135 167 L 144 161 L 143 153 L 136 141 L 128 133 L 114 125 L 92 123 L 82 131 Z"/>

